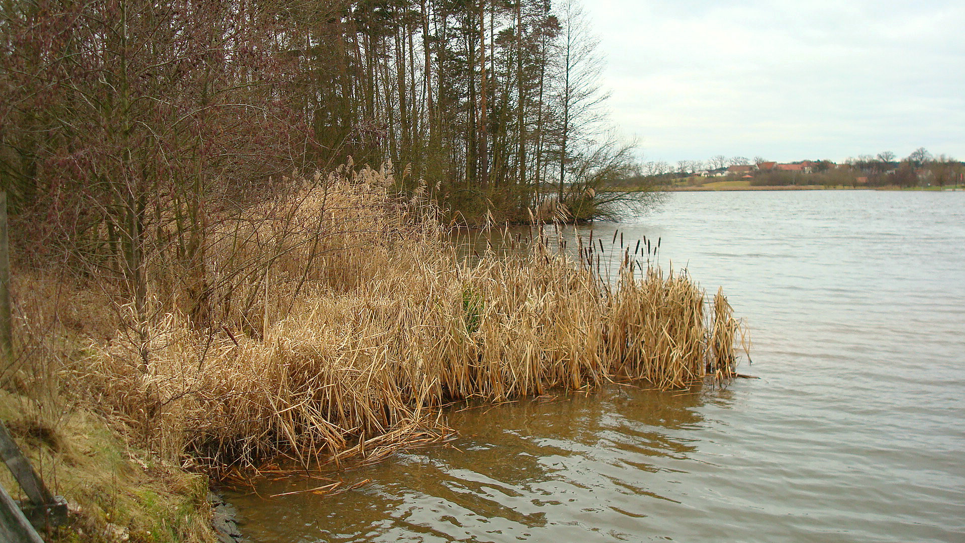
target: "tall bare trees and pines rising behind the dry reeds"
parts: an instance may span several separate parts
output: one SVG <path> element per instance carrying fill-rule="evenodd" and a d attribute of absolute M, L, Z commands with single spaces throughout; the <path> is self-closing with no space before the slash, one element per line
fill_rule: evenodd
<path fill-rule="evenodd" d="M 349 157 L 466 220 L 573 217 L 632 166 L 600 66 L 571 0 L 11 0 L 0 182 L 29 239 L 128 252 Z"/>

